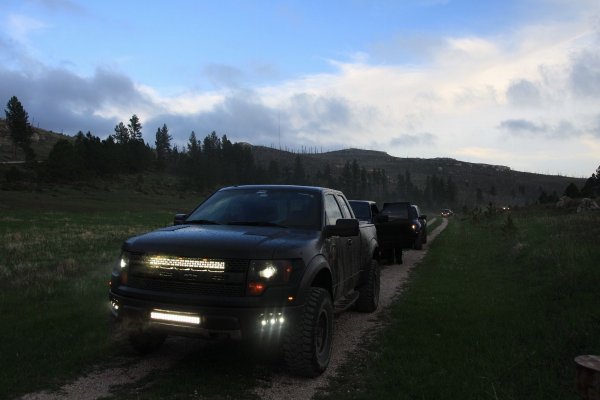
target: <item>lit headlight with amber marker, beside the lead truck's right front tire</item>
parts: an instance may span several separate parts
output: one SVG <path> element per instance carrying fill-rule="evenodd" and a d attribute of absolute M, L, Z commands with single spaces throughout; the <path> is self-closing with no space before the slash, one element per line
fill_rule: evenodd
<path fill-rule="evenodd" d="M 248 271 L 248 292 L 262 294 L 268 285 L 285 284 L 294 270 L 290 260 L 252 260 Z"/>

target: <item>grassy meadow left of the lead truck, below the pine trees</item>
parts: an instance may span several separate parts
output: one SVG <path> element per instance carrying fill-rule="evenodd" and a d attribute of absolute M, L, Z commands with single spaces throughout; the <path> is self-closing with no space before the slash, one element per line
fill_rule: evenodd
<path fill-rule="evenodd" d="M 107 281 L 122 241 L 200 200 L 75 189 L 0 199 L 0 398 L 108 360 Z"/>

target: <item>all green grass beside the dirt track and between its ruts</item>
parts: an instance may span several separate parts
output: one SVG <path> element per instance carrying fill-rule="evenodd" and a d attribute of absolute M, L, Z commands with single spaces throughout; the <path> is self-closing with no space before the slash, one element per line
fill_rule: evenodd
<path fill-rule="evenodd" d="M 0 398 L 58 387 L 123 353 L 107 305 L 121 242 L 199 200 L 0 192 Z M 573 358 L 600 354 L 600 214 L 528 209 L 510 221 L 449 222 L 382 316 L 385 328 L 319 398 L 578 398 Z M 256 398 L 252 389 L 279 368 L 243 345 L 215 344 L 115 398 Z"/>

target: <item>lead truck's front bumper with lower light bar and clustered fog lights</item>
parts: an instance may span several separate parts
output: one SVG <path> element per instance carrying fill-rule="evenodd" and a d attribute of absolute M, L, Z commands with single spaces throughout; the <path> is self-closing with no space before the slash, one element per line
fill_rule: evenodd
<path fill-rule="evenodd" d="M 297 321 L 302 310 L 301 305 L 181 305 L 123 296 L 113 291 L 109 292 L 109 300 L 114 322 L 125 329 L 143 328 L 180 336 L 229 336 L 232 339 L 278 336 Z M 153 312 L 174 318 L 156 319 L 152 317 Z"/>

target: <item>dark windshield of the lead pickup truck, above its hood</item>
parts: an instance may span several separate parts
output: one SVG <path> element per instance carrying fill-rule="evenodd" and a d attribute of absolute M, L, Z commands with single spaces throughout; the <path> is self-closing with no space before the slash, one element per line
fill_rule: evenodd
<path fill-rule="evenodd" d="M 281 226 L 321 229 L 320 194 L 289 189 L 234 189 L 216 192 L 187 223 Z"/>

